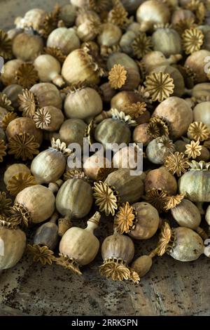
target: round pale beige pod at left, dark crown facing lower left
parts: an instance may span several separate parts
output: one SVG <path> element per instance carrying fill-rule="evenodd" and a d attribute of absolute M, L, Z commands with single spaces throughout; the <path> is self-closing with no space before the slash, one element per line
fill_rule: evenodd
<path fill-rule="evenodd" d="M 55 196 L 49 188 L 33 185 L 17 194 L 14 207 L 21 220 L 43 223 L 55 211 Z"/>

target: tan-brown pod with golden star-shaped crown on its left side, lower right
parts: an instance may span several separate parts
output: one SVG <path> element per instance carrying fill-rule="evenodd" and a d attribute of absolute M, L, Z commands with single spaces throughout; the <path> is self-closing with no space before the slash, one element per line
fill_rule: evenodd
<path fill-rule="evenodd" d="M 115 217 L 115 226 L 120 234 L 128 233 L 134 239 L 149 239 L 160 225 L 158 211 L 151 204 L 126 202 L 120 206 Z"/>

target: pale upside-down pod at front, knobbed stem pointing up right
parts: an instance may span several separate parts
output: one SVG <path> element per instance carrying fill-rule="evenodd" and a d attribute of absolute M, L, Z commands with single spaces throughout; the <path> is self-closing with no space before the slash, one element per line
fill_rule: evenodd
<path fill-rule="evenodd" d="M 59 243 L 59 258 L 56 263 L 72 272 L 82 275 L 79 267 L 88 265 L 94 260 L 99 251 L 99 240 L 94 236 L 94 230 L 99 225 L 99 212 L 87 220 L 87 227 L 71 227 Z"/>

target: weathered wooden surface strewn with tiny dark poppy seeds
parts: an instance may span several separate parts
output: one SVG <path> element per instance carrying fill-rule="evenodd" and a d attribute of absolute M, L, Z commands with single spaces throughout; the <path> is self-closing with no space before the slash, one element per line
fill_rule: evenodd
<path fill-rule="evenodd" d="M 49 8 L 56 1 L 0 1 L 1 27 L 12 27 L 15 16 L 31 6 Z M 60 4 L 68 2 L 60 1 Z M 50 5 L 49 5 L 50 4 Z M 2 180 L 2 171 L 1 171 Z M 1 189 L 3 185 L 1 183 Z M 84 221 L 78 223 L 85 226 Z M 111 234 L 111 223 L 102 220 L 97 232 Z M 151 251 L 156 237 L 135 242 L 136 255 Z M 156 258 L 141 283 L 112 282 L 99 276 L 99 256 L 83 269 L 83 277 L 57 265 L 34 265 L 25 256 L 12 270 L 0 274 L 0 315 L 209 315 L 210 260 L 193 263 Z"/>

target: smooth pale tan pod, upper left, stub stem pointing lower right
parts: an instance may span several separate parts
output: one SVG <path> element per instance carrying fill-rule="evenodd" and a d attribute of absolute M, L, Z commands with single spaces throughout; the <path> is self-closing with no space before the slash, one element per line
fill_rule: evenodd
<path fill-rule="evenodd" d="M 38 78 L 40 81 L 52 81 L 56 86 L 64 86 L 65 81 L 60 75 L 61 65 L 53 56 L 48 54 L 39 55 L 36 60 L 34 60 L 34 67 L 38 72 Z"/>

